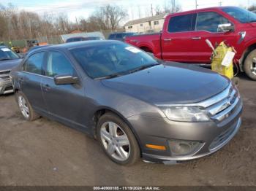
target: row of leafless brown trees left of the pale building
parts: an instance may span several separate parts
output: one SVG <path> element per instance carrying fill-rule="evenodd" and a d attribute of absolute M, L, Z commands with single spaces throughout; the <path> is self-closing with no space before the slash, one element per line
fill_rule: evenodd
<path fill-rule="evenodd" d="M 106 5 L 96 9 L 88 19 L 72 23 L 67 13 L 52 15 L 45 12 L 38 15 L 36 12 L 19 11 L 12 4 L 0 4 L 0 41 L 68 34 L 78 28 L 82 31 L 116 30 L 125 17 L 127 12 L 123 8 Z"/>

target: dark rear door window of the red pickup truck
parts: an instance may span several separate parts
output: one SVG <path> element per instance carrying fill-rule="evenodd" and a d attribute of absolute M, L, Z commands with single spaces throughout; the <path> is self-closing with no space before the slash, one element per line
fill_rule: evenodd
<path fill-rule="evenodd" d="M 168 25 L 170 33 L 194 31 L 196 14 L 171 17 Z"/>

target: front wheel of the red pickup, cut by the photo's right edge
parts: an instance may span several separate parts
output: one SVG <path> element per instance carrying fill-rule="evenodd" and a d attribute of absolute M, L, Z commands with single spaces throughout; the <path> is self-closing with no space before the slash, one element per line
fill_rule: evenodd
<path fill-rule="evenodd" d="M 244 71 L 250 79 L 256 81 L 256 50 L 252 50 L 252 52 L 249 52 L 249 55 L 246 56 Z"/>

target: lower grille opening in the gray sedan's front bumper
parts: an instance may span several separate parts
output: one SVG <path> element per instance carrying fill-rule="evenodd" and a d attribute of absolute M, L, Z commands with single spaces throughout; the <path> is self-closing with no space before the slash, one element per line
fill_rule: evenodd
<path fill-rule="evenodd" d="M 218 147 L 222 146 L 222 144 L 225 144 L 225 141 L 232 138 L 234 131 L 239 128 L 239 122 L 241 122 L 240 119 L 231 125 L 230 128 L 227 128 L 227 130 L 224 130 L 222 133 L 220 133 L 219 136 L 217 136 L 214 141 L 211 142 L 209 146 L 210 151 L 217 149 Z"/>

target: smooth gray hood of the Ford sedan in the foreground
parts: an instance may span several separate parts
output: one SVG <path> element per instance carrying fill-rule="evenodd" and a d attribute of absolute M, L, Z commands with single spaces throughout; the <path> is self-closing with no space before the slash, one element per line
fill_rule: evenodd
<path fill-rule="evenodd" d="M 165 63 L 102 84 L 150 104 L 190 104 L 221 93 L 230 80 L 197 66 Z"/>

